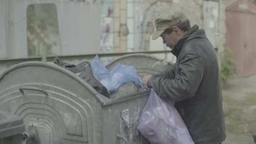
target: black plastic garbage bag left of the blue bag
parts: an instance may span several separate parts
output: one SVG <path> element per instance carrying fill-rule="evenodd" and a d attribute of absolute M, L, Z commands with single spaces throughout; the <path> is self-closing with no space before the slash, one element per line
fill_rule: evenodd
<path fill-rule="evenodd" d="M 96 80 L 93 77 L 93 71 L 91 69 L 90 62 L 84 61 L 78 65 L 68 64 L 56 57 L 54 59 L 54 64 L 64 67 L 65 69 L 68 69 L 71 72 L 74 72 L 76 75 L 82 77 L 83 80 L 89 83 L 96 91 L 101 93 L 103 96 L 106 96 L 109 98 L 109 93 L 107 91 L 107 88 L 105 88 L 104 85 L 102 85 L 98 80 Z"/>

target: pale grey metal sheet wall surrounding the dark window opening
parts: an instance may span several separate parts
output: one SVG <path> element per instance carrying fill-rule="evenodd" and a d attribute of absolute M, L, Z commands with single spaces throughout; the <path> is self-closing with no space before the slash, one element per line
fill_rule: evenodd
<path fill-rule="evenodd" d="M 101 4 L 60 0 L 4 1 L 9 2 L 10 58 L 27 57 L 27 7 L 40 3 L 56 5 L 61 54 L 74 55 L 100 51 Z"/>

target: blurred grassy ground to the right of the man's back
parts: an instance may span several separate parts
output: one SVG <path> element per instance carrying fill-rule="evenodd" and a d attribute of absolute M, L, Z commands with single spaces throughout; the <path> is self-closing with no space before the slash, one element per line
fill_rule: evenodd
<path fill-rule="evenodd" d="M 222 95 L 227 133 L 222 144 L 255 144 L 256 75 L 229 80 Z"/>

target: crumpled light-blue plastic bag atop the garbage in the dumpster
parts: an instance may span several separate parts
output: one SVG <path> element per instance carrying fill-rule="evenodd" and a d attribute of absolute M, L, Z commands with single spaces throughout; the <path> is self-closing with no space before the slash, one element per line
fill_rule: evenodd
<path fill-rule="evenodd" d="M 117 64 L 111 72 L 108 72 L 106 67 L 99 63 L 99 57 L 96 55 L 92 62 L 92 69 L 93 77 L 107 88 L 109 94 L 114 93 L 121 85 L 131 81 L 143 88 L 134 66 Z"/>

